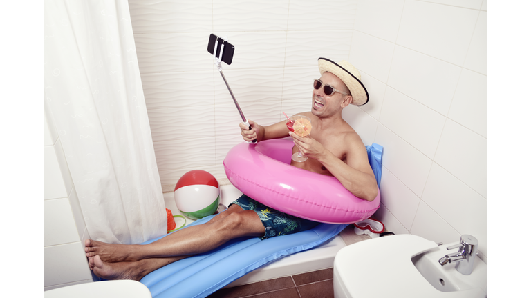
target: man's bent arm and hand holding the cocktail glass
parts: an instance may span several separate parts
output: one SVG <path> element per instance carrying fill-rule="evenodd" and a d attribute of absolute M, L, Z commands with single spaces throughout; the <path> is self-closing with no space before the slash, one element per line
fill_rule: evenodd
<path fill-rule="evenodd" d="M 321 143 L 311 138 L 311 135 L 304 138 L 295 133 L 290 135 L 304 155 L 321 162 L 353 195 L 367 201 L 376 198 L 378 183 L 369 164 L 366 148 L 361 141 L 355 140 L 353 136 L 347 136 L 342 140 L 348 143 L 346 163 L 344 163 Z"/>

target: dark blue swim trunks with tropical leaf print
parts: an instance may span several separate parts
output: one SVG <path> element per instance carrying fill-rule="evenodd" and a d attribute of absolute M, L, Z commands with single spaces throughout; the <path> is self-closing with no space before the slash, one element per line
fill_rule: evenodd
<path fill-rule="evenodd" d="M 301 219 L 300 217 L 280 212 L 279 210 L 265 206 L 263 203 L 254 201 L 254 199 L 251 199 L 246 195 L 242 195 L 236 199 L 236 201 L 230 203 L 230 205 L 232 204 L 240 206 L 243 210 L 253 210 L 254 212 L 257 212 L 257 215 L 260 217 L 265 228 L 265 235 L 260 238 L 262 240 L 269 237 L 310 230 L 320 224 L 317 221 Z"/>

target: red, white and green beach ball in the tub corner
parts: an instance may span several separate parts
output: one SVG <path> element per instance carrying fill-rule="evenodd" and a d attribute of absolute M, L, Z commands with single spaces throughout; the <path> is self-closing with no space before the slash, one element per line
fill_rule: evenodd
<path fill-rule="evenodd" d="M 204 170 L 191 170 L 180 177 L 174 190 L 175 204 L 191 219 L 213 215 L 219 205 L 219 184 Z"/>

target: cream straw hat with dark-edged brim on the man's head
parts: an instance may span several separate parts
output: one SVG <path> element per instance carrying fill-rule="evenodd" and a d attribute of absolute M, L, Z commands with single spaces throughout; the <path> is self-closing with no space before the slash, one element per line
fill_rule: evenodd
<path fill-rule="evenodd" d="M 345 83 L 348 90 L 351 91 L 352 102 L 351 104 L 356 106 L 363 106 L 369 102 L 369 92 L 367 92 L 365 86 L 363 86 L 362 74 L 347 61 L 343 60 L 339 63 L 326 58 L 317 59 L 319 62 L 319 72 L 330 72 L 335 74 L 336 77 L 341 79 Z"/>

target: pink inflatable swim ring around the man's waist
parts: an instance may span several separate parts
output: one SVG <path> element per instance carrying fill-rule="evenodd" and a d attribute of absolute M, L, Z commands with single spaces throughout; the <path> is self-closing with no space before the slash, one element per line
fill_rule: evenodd
<path fill-rule="evenodd" d="M 253 199 L 290 215 L 328 224 L 351 224 L 380 207 L 355 197 L 335 178 L 290 166 L 292 139 L 239 143 L 225 157 L 230 182 Z"/>

